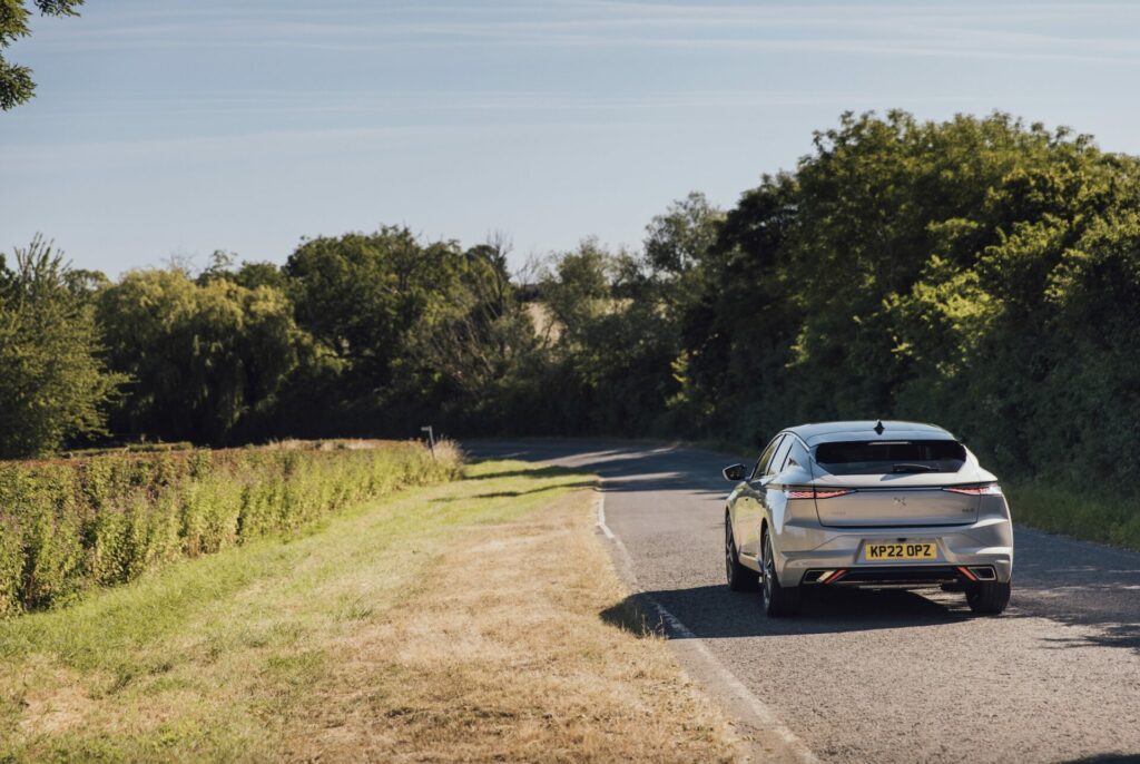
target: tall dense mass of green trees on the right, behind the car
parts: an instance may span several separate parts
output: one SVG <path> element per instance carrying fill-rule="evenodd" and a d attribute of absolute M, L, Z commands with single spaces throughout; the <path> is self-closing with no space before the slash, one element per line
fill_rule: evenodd
<path fill-rule="evenodd" d="M 936 421 L 1007 474 L 1132 482 L 1138 209 L 1140 160 L 1064 128 L 845 114 L 689 267 L 674 406 L 752 442 Z"/>

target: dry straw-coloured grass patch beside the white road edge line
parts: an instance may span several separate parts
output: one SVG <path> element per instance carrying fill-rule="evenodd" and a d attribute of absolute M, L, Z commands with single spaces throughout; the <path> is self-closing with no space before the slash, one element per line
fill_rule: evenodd
<path fill-rule="evenodd" d="M 342 640 L 294 756 L 731 761 L 724 720 L 665 640 L 598 617 L 622 592 L 588 499 L 483 529 L 410 607 Z"/>

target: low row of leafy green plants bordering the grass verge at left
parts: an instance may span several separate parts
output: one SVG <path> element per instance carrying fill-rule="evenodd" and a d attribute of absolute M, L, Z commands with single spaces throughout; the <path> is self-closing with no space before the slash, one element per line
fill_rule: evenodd
<path fill-rule="evenodd" d="M 453 477 L 454 449 L 302 442 L 0 463 L 0 615 L 64 604 L 178 558 L 296 533 Z"/>

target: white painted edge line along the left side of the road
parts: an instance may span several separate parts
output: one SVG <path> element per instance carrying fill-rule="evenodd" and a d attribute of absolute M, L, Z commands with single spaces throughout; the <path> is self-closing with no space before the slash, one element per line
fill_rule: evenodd
<path fill-rule="evenodd" d="M 795 732 L 788 729 L 788 726 L 780 721 L 780 718 L 768 708 L 767 704 L 756 697 L 756 694 L 749 690 L 744 684 L 735 677 L 735 675 L 725 668 L 716 656 L 708 649 L 705 644 L 705 640 L 700 639 L 694 634 L 687 626 L 685 626 L 679 618 L 669 612 L 661 603 L 651 598 L 645 593 L 637 584 L 637 577 L 634 574 L 634 559 L 629 554 L 629 550 L 621 542 L 620 538 L 613 533 L 612 529 L 605 523 L 605 489 L 600 488 L 597 491 L 597 501 L 595 502 L 595 511 L 597 514 L 597 527 L 601 529 L 605 537 L 613 542 L 613 545 L 621 553 L 621 560 L 625 563 L 626 576 L 632 582 L 634 591 L 636 594 L 641 595 L 642 601 L 648 602 L 661 620 L 668 625 L 669 631 L 679 636 L 683 640 L 690 640 L 689 643 L 694 648 L 697 657 L 705 664 L 705 666 L 716 675 L 716 678 L 726 686 L 736 700 L 743 704 L 752 714 L 751 722 L 763 731 L 774 733 L 783 743 L 788 747 L 789 753 L 796 758 L 796 761 L 803 762 L 804 764 L 819 764 L 820 758 L 812 753 L 812 749 L 807 747 Z"/>

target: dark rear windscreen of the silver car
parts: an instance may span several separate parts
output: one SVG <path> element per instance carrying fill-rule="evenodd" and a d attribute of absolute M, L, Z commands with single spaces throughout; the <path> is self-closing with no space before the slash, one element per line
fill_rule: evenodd
<path fill-rule="evenodd" d="M 958 472 L 966 448 L 953 440 L 852 440 L 820 444 L 815 461 L 831 474 Z"/>

